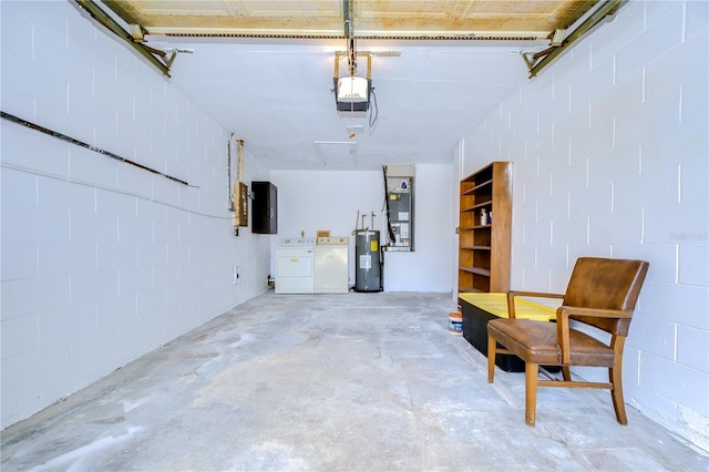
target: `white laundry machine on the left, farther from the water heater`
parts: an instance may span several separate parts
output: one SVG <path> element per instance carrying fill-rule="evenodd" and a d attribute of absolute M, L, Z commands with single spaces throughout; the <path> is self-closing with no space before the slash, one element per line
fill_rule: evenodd
<path fill-rule="evenodd" d="M 275 252 L 276 294 L 312 294 L 315 238 L 285 238 Z"/>

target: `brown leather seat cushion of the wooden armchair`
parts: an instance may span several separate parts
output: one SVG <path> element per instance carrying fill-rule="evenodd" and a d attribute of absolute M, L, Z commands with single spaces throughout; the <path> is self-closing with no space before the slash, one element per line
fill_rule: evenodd
<path fill-rule="evenodd" d="M 562 365 L 555 322 L 493 319 L 487 324 L 487 332 L 524 361 L 544 366 Z M 613 367 L 613 349 L 586 334 L 571 329 L 569 346 L 572 365 Z"/>

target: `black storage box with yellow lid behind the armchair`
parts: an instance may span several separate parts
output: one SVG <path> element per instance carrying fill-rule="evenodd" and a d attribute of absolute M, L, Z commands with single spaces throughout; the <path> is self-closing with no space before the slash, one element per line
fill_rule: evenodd
<path fill-rule="evenodd" d="M 507 318 L 506 294 L 462 293 L 458 299 L 463 314 L 463 338 L 487 356 L 487 321 Z M 556 320 L 556 309 L 532 300 L 515 299 L 517 318 L 541 321 Z M 524 372 L 524 361 L 513 355 L 497 355 L 495 365 L 507 372 Z"/>

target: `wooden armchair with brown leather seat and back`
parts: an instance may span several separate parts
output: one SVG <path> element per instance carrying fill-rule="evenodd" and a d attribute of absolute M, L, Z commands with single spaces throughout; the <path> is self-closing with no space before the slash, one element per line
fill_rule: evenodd
<path fill-rule="evenodd" d="M 644 260 L 582 257 L 576 261 L 566 294 L 511 291 L 507 295 L 510 318 L 487 324 L 487 381 L 494 380 L 495 355 L 513 353 L 525 361 L 525 421 L 533 427 L 536 418 L 538 387 L 588 387 L 610 389 L 616 418 L 627 424 L 623 401 L 623 347 L 630 318 L 649 264 Z M 515 319 L 517 296 L 563 298 L 556 310 L 556 322 Z M 571 327 L 580 321 L 610 334 L 606 345 Z M 502 348 L 497 347 L 502 345 Z M 557 366 L 562 379 L 544 373 L 540 366 Z M 608 369 L 608 382 L 572 380 L 569 367 L 592 366 Z"/>

